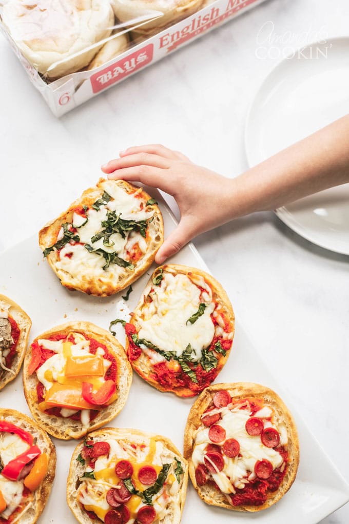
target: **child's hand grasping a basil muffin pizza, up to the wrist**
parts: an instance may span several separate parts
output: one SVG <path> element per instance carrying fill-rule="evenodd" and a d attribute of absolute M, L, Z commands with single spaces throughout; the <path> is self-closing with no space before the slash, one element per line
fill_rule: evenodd
<path fill-rule="evenodd" d="M 102 171 L 110 179 L 141 182 L 174 196 L 181 222 L 158 250 L 157 264 L 177 253 L 196 235 L 234 217 L 234 179 L 196 166 L 181 153 L 164 146 L 130 147 L 120 153 L 120 158 L 104 165 Z"/>

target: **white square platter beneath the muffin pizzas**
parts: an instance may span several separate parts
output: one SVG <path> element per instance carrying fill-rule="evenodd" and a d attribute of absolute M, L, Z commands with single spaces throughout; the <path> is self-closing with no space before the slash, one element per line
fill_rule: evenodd
<path fill-rule="evenodd" d="M 154 191 L 151 191 L 154 193 Z M 157 196 L 164 216 L 166 234 L 175 227 L 175 219 L 167 206 Z M 186 264 L 208 270 L 202 258 L 192 245 L 187 245 L 175 257 L 174 263 Z M 138 302 L 151 270 L 133 285 L 129 307 Z M 87 320 L 101 328 L 108 329 L 109 323 L 118 315 L 117 304 L 123 292 L 109 298 L 89 297 L 78 291 L 68 291 L 60 286 L 46 261 L 43 261 L 37 246 L 37 237 L 9 249 L 0 257 L 0 275 L 2 285 L 0 293 L 7 294 L 18 302 L 33 321 L 30 339 L 57 324 Z M 234 304 L 233 304 L 234 305 Z M 118 326 L 117 326 L 118 327 Z M 120 341 L 123 343 L 124 341 Z M 349 485 L 337 472 L 334 465 L 306 428 L 304 422 L 283 394 L 282 389 L 270 376 L 265 364 L 236 322 L 236 338 L 232 354 L 219 375 L 219 381 L 255 381 L 275 389 L 285 400 L 294 414 L 298 425 L 301 462 L 297 478 L 290 491 L 280 502 L 260 514 L 245 515 L 207 506 L 196 494 L 193 487 L 188 487 L 187 500 L 182 522 L 192 524 L 231 523 L 244 524 L 315 524 L 349 500 Z M 135 373 L 129 399 L 123 411 L 110 425 L 124 428 L 139 428 L 163 434 L 183 449 L 183 433 L 189 409 L 193 399 L 180 399 L 170 393 L 161 393 L 147 385 Z M 17 377 L 1 393 L 1 406 L 16 408 L 30 415 L 22 388 L 22 377 Z M 57 449 L 57 472 L 48 504 L 40 518 L 42 523 L 76 524 L 66 504 L 66 479 L 70 456 L 75 449 L 75 442 L 53 439 Z"/>

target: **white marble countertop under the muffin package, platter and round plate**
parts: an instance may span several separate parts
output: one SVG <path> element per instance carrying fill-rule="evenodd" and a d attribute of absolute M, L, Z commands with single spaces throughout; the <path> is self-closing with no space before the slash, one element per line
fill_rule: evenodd
<path fill-rule="evenodd" d="M 0 250 L 37 232 L 96 182 L 101 163 L 130 145 L 160 142 L 226 176 L 244 171 L 248 106 L 278 61 L 270 46 L 267 58 L 256 57 L 259 29 L 271 21 L 274 34 L 297 47 L 323 35 L 349 35 L 348 17 L 347 0 L 269 0 L 61 119 L 1 36 Z M 285 40 L 273 46 L 271 55 L 281 56 Z M 349 481 L 349 257 L 303 240 L 273 213 L 227 224 L 195 245 Z M 349 505 L 322 524 L 347 522 Z"/>

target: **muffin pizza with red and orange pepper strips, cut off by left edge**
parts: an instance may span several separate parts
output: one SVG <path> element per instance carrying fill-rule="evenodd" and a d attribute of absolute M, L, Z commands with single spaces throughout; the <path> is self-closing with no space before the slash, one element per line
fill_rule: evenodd
<path fill-rule="evenodd" d="M 34 524 L 45 508 L 55 478 L 55 446 L 33 419 L 14 409 L 0 408 L 0 436 L 0 457 L 4 466 L 0 490 L 6 504 L 0 517 L 4 519 L 2 522 Z M 7 472 L 6 465 L 16 459 L 17 453 L 26 451 L 33 453 L 35 458 L 31 461 L 30 457 L 25 459 L 28 462 L 18 479 L 10 480 L 6 475 L 12 476 L 13 467 L 8 467 Z"/>

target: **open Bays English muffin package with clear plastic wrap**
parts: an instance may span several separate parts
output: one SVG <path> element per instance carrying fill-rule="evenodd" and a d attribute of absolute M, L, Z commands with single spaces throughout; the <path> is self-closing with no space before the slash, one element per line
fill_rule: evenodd
<path fill-rule="evenodd" d="M 264 0 L 0 0 L 0 26 L 60 116 Z"/>

